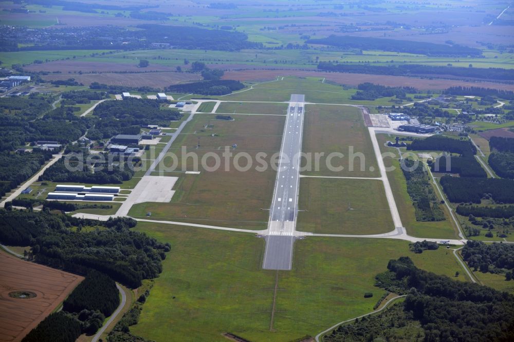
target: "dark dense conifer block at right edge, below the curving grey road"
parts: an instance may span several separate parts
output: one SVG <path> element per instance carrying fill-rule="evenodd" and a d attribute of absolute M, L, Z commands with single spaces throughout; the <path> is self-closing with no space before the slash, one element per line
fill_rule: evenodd
<path fill-rule="evenodd" d="M 444 176 L 440 184 L 454 203 L 480 203 L 485 195 L 499 203 L 514 203 L 514 180 Z"/>

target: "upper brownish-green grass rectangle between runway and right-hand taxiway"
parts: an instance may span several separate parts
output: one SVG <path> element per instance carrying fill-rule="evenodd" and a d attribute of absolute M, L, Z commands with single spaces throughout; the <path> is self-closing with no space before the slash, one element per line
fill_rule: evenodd
<path fill-rule="evenodd" d="M 307 105 L 302 150 L 313 154 L 313 161 L 315 153 L 324 154 L 319 158 L 319 168 L 313 162 L 310 169 L 301 172 L 303 175 L 380 177 L 370 134 L 358 108 Z M 331 153 L 336 155 L 330 158 Z"/>

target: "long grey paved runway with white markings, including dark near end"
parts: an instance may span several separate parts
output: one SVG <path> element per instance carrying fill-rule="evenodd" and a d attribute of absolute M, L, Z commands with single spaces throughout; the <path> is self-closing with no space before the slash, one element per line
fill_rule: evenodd
<path fill-rule="evenodd" d="M 305 96 L 292 94 L 282 136 L 280 162 L 273 191 L 263 268 L 290 270 L 295 240 L 300 181 L 300 153 Z"/>

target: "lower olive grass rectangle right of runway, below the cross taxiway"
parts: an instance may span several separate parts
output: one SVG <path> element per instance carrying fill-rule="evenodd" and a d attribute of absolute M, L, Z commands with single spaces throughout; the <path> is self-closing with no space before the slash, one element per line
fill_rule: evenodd
<path fill-rule="evenodd" d="M 382 181 L 301 178 L 297 230 L 379 234 L 394 230 Z"/>

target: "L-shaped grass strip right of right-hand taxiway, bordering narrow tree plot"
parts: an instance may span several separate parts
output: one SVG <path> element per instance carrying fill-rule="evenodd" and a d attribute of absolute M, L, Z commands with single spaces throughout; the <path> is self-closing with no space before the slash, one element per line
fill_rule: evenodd
<path fill-rule="evenodd" d="M 384 157 L 384 165 L 386 168 L 393 168 L 387 172 L 387 177 L 391 185 L 393 196 L 400 214 L 401 223 L 406 227 L 407 233 L 420 238 L 440 238 L 455 239 L 458 238 L 454 222 L 448 213 L 446 206 L 442 206 L 445 213 L 445 221 L 438 222 L 418 222 L 416 221 L 415 209 L 412 205 L 412 199 L 407 193 L 407 181 L 400 168 L 398 151 L 396 148 L 384 146 L 386 141 L 394 141 L 395 135 L 377 135 L 377 140 L 382 153 L 389 152 L 394 157 Z M 402 150 L 402 153 L 404 150 Z M 436 191 L 434 189 L 434 191 Z"/>

